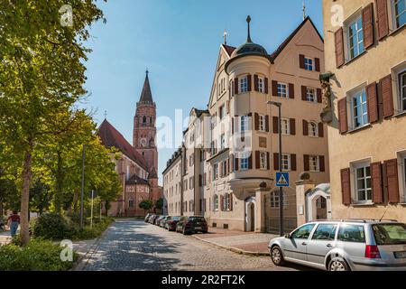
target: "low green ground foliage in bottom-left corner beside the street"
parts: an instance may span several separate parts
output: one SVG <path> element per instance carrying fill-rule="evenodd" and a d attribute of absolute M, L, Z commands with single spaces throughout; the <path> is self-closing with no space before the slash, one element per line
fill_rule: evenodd
<path fill-rule="evenodd" d="M 0 246 L 0 271 L 66 271 L 73 262 L 60 260 L 63 247 L 43 239 L 32 239 L 24 246 Z M 74 254 L 74 261 L 78 256 Z"/>

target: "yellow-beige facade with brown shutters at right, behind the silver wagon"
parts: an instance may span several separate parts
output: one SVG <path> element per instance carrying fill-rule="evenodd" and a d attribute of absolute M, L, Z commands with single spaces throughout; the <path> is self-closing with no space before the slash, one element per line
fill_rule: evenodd
<path fill-rule="evenodd" d="M 343 12 L 332 21 L 333 5 Z M 322 75 L 335 219 L 406 221 L 404 1 L 323 0 Z"/>

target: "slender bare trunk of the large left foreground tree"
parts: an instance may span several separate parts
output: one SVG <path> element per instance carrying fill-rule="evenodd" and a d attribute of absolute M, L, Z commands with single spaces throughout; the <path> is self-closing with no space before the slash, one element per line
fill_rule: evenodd
<path fill-rule="evenodd" d="M 29 141 L 29 145 L 24 155 L 23 163 L 23 186 L 21 191 L 21 228 L 20 235 L 23 245 L 27 245 L 30 242 L 29 232 L 29 203 L 30 203 L 30 185 L 32 179 L 32 139 Z"/>

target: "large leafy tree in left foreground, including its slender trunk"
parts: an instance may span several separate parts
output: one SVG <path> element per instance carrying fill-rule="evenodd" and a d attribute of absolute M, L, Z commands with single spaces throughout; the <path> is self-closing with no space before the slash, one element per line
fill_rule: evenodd
<path fill-rule="evenodd" d="M 71 0 L 72 25 L 62 25 L 64 0 L 4 0 L 0 13 L 0 135 L 22 160 L 21 237 L 30 240 L 29 190 L 37 145 L 61 132 L 60 114 L 86 94 L 88 27 L 103 18 L 96 1 Z"/>

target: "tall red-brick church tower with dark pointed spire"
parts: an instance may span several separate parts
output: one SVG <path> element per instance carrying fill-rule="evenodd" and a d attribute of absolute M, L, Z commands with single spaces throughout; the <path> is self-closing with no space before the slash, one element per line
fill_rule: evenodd
<path fill-rule="evenodd" d="M 152 100 L 150 80 L 148 79 L 148 70 L 146 70 L 143 91 L 134 117 L 133 145 L 135 150 L 143 155 L 150 177 L 156 174 L 158 168 L 158 150 L 156 141 L 156 106 Z"/>

